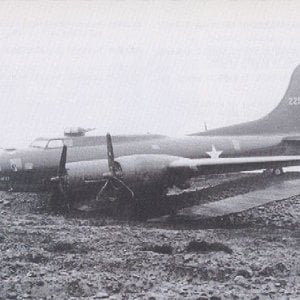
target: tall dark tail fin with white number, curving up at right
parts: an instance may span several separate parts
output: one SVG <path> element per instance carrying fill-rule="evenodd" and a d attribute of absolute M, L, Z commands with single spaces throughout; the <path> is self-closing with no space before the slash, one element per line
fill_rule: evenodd
<path fill-rule="evenodd" d="M 300 134 L 300 65 L 292 74 L 278 106 L 265 117 L 242 124 L 208 130 L 195 135 Z"/>

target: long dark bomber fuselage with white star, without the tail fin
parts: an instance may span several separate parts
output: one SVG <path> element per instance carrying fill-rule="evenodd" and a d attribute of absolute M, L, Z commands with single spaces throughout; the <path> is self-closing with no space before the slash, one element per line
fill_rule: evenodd
<path fill-rule="evenodd" d="M 283 136 L 155 136 L 150 139 L 113 138 L 115 157 L 134 154 L 166 154 L 185 158 L 272 156 L 287 153 Z M 47 190 L 48 179 L 56 174 L 61 148 L 26 148 L 0 155 L 0 189 Z M 69 147 L 68 162 L 106 159 L 106 144 Z"/>

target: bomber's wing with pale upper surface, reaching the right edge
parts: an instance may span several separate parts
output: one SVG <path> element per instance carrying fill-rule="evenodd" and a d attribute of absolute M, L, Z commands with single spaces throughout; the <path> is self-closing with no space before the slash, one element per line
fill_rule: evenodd
<path fill-rule="evenodd" d="M 169 165 L 170 171 L 191 172 L 196 175 L 300 166 L 300 156 L 258 156 L 234 158 L 182 158 Z"/>

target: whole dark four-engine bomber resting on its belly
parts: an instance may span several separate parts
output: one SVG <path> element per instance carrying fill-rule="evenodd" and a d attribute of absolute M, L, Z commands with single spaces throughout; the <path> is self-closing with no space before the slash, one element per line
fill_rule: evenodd
<path fill-rule="evenodd" d="M 300 66 L 279 105 L 265 117 L 194 133 L 37 139 L 26 149 L 3 150 L 0 188 L 50 191 L 52 201 L 108 195 L 116 201 L 163 194 L 187 179 L 300 165 Z M 123 201 L 123 200 L 122 200 Z"/>

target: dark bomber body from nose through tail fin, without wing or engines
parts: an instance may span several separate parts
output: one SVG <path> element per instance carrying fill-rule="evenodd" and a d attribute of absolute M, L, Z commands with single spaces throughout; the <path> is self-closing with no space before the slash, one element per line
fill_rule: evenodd
<path fill-rule="evenodd" d="M 139 154 L 190 159 L 297 155 L 300 153 L 300 66 L 279 105 L 259 120 L 180 138 L 113 136 L 112 143 L 116 158 Z M 0 188 L 47 190 L 49 178 L 57 172 L 64 144 L 68 146 L 68 163 L 107 159 L 104 136 L 40 138 L 26 149 L 2 150 Z"/>

